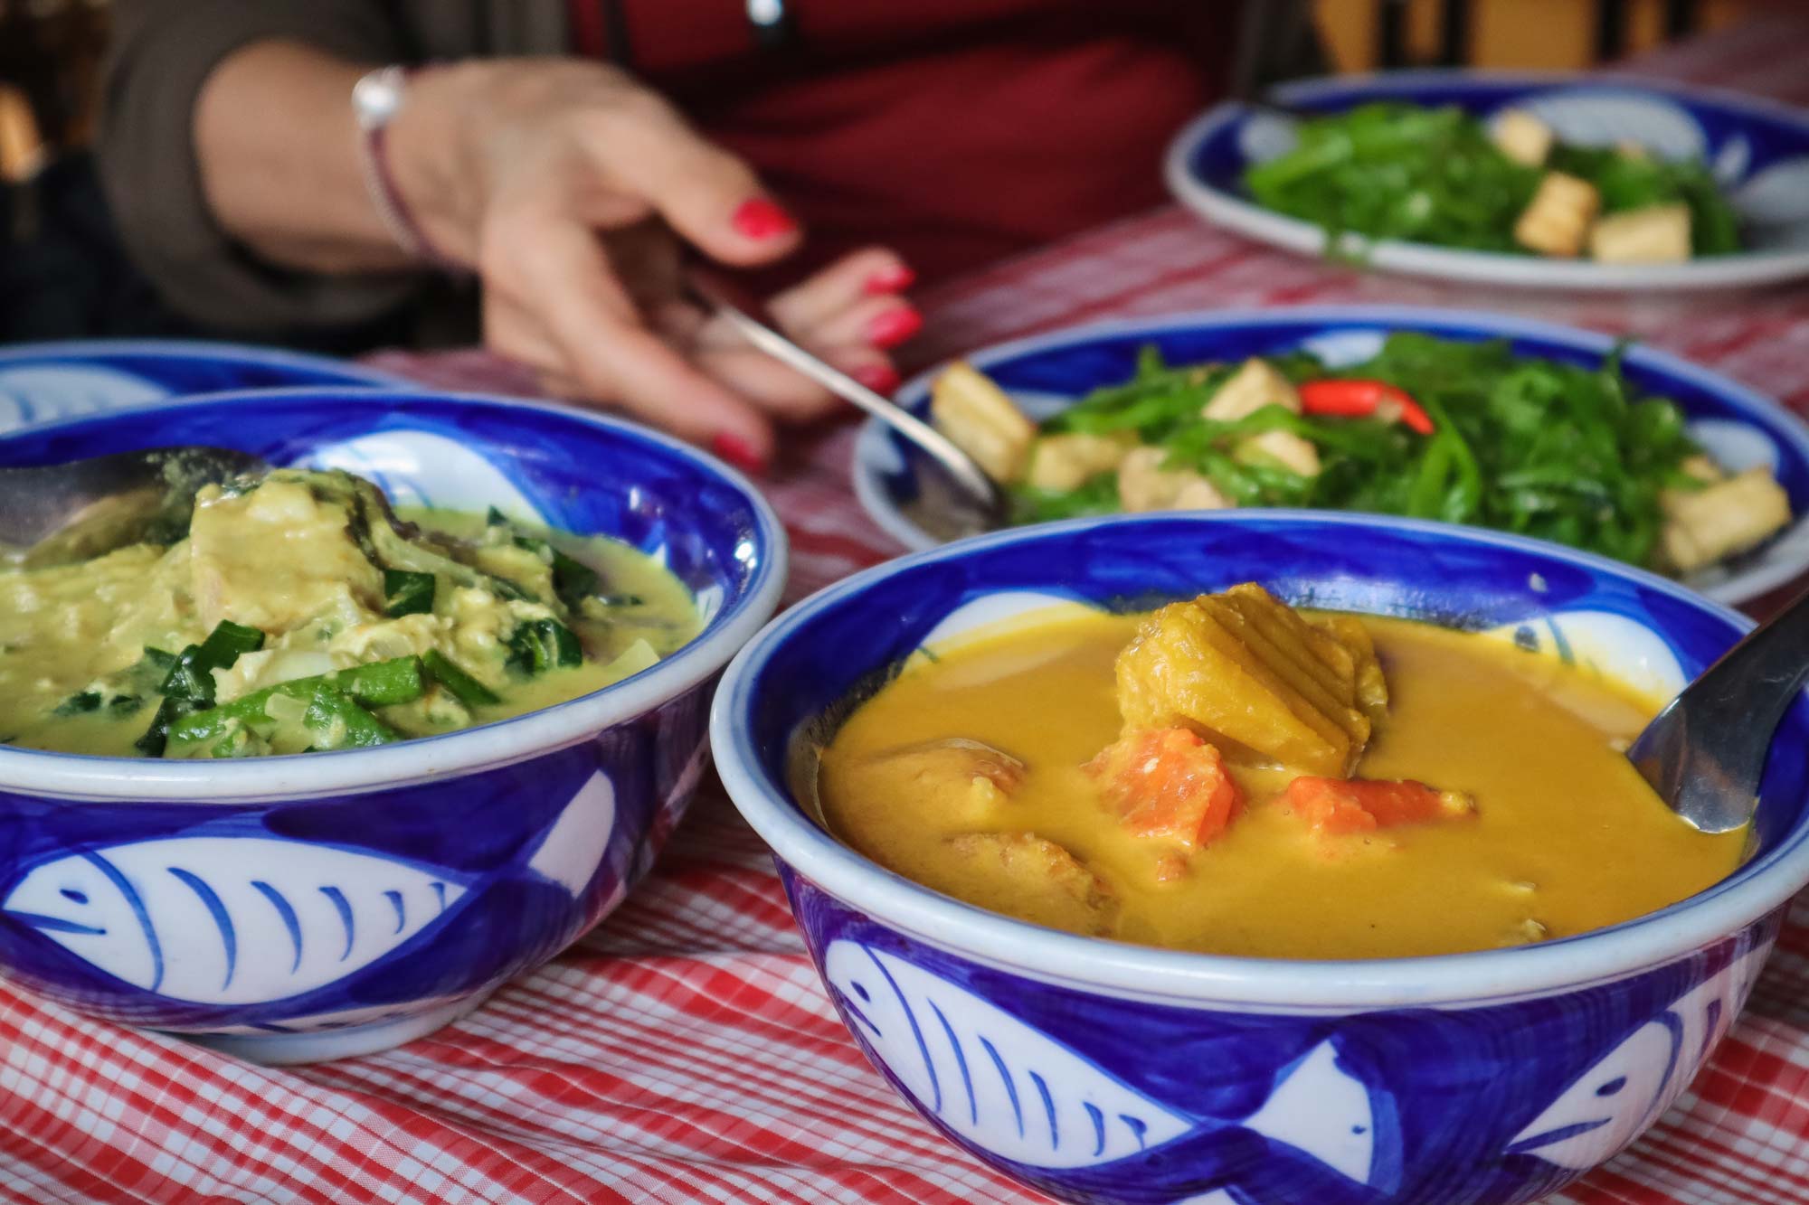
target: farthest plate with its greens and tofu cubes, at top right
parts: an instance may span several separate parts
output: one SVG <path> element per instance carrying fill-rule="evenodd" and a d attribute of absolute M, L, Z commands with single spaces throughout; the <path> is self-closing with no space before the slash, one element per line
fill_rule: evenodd
<path fill-rule="evenodd" d="M 1465 284 L 1758 288 L 1809 275 L 1809 112 L 1568 72 L 1386 71 L 1223 101 L 1169 190 L 1297 255 Z"/>

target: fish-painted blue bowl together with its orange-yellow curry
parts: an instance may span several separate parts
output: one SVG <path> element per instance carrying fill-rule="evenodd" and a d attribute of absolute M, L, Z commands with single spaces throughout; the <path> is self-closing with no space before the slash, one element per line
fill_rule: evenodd
<path fill-rule="evenodd" d="M 854 1040 L 1071 1201 L 1532 1201 L 1634 1142 L 1809 883 L 1623 756 L 1747 621 L 1518 536 L 1302 510 L 991 534 L 792 608 L 713 740 Z"/>

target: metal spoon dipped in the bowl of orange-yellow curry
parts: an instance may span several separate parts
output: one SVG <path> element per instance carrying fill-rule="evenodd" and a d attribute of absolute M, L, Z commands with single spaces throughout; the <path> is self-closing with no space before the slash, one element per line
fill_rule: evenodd
<path fill-rule="evenodd" d="M 1758 809 L 1778 722 L 1809 682 L 1809 592 L 1755 628 L 1686 686 L 1626 751 L 1664 803 L 1702 832 Z"/>

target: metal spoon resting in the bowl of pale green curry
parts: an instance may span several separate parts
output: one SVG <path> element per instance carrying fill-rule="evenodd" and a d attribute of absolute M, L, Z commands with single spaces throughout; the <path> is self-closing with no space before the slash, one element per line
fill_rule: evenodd
<path fill-rule="evenodd" d="M 183 530 L 195 490 L 270 465 L 224 447 L 154 447 L 62 465 L 0 469 L 0 566 L 67 565 Z"/>

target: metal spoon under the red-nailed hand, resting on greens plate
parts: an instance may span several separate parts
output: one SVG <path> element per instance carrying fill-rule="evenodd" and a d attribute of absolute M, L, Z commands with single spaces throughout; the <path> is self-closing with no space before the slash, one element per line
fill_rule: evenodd
<path fill-rule="evenodd" d="M 939 470 L 935 476 L 955 487 L 953 490 L 939 490 L 950 496 L 937 498 L 937 507 L 924 508 L 926 512 L 941 512 L 939 527 L 944 530 L 932 532 L 933 536 L 957 539 L 975 532 L 990 532 L 1002 525 L 1006 512 L 1004 494 L 986 476 L 986 470 L 973 463 L 971 456 L 955 447 L 948 436 L 892 398 L 868 389 L 841 369 L 816 358 L 772 329 L 771 324 L 754 318 L 753 315 L 760 308 L 747 299 L 736 297 L 724 282 L 713 280 L 696 270 L 682 273 L 682 280 L 691 293 L 691 300 L 727 320 L 749 344 L 780 364 L 803 373 L 845 402 L 852 402 L 874 418 L 888 423 L 930 458 L 930 463 Z M 924 481 L 924 485 L 937 489 L 930 481 Z"/>

